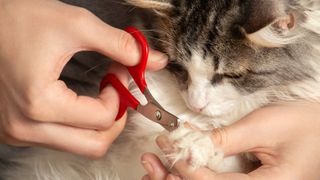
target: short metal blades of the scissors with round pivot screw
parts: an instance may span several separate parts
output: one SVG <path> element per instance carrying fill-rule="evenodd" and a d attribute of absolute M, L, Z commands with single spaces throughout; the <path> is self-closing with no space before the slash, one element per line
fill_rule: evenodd
<path fill-rule="evenodd" d="M 179 118 L 152 102 L 145 106 L 139 105 L 137 111 L 151 121 L 162 125 L 168 131 L 173 131 L 179 126 Z"/>

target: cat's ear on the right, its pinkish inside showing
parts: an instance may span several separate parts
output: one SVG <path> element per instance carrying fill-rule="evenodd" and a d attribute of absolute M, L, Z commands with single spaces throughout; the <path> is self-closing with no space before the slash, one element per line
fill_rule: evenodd
<path fill-rule="evenodd" d="M 242 26 L 246 37 L 263 47 L 281 47 L 295 40 L 291 32 L 296 19 L 285 7 L 279 0 L 250 0 Z"/>

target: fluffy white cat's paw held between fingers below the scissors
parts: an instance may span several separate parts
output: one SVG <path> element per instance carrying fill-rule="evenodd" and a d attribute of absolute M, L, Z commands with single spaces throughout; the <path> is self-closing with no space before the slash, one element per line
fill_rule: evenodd
<path fill-rule="evenodd" d="M 223 152 L 215 147 L 207 133 L 182 125 L 171 132 L 168 138 L 173 146 L 168 157 L 173 164 L 179 160 L 187 160 L 195 169 L 208 167 L 214 170 L 223 160 Z"/>

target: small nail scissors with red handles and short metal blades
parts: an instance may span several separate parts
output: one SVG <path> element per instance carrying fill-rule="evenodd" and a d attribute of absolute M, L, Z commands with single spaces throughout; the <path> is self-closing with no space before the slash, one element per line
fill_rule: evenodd
<path fill-rule="evenodd" d="M 141 103 L 129 92 L 127 88 L 119 81 L 114 74 L 107 74 L 100 83 L 100 91 L 104 89 L 108 84 L 111 84 L 118 92 L 120 98 L 119 112 L 116 120 L 119 120 L 129 107 L 136 110 L 144 117 L 150 119 L 162 125 L 166 130 L 173 131 L 179 126 L 179 118 L 166 111 L 152 96 L 150 93 L 146 80 L 145 71 L 149 56 L 149 45 L 143 34 L 134 27 L 126 28 L 126 31 L 130 33 L 140 44 L 141 47 L 141 59 L 140 63 L 133 67 L 126 67 L 131 77 L 139 87 L 142 94 L 147 99 L 146 105 Z"/>

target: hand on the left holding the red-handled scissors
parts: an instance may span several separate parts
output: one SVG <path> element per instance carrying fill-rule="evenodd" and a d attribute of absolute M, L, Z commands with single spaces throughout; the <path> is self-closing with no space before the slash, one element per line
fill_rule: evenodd
<path fill-rule="evenodd" d="M 97 98 L 77 96 L 58 78 L 79 51 L 137 64 L 134 38 L 57 0 L 0 0 L 0 27 L 0 143 L 104 155 L 125 125 L 125 116 L 114 122 L 117 92 L 106 87 Z M 152 50 L 148 68 L 166 61 Z M 127 84 L 123 68 L 111 70 Z"/>

